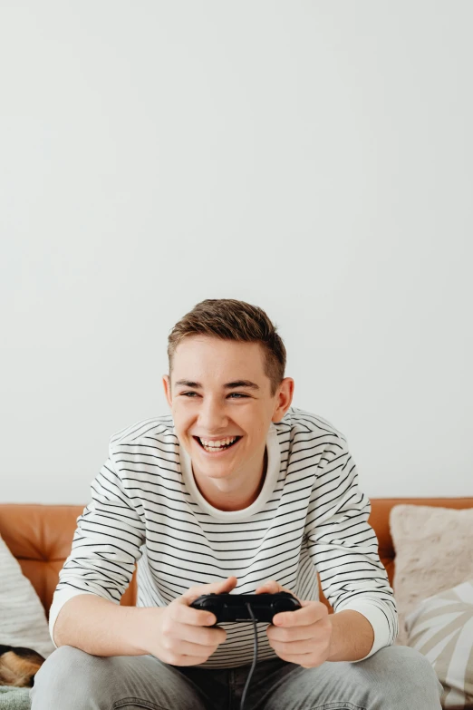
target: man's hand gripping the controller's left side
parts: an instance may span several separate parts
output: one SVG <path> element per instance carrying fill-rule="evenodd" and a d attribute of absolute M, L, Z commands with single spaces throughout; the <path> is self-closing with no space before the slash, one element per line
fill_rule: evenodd
<path fill-rule="evenodd" d="M 208 628 L 216 623 L 215 614 L 189 605 L 201 594 L 228 593 L 236 584 L 236 577 L 228 577 L 223 582 L 191 587 L 168 607 L 146 609 L 139 629 L 145 653 L 171 666 L 205 663 L 225 641 L 227 632 L 224 628 Z"/>

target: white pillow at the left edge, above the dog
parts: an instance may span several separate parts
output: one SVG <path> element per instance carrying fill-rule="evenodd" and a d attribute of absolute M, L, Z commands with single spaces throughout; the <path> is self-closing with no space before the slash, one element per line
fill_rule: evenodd
<path fill-rule="evenodd" d="M 1 536 L 0 644 L 32 648 L 44 658 L 55 650 L 41 599 Z"/>

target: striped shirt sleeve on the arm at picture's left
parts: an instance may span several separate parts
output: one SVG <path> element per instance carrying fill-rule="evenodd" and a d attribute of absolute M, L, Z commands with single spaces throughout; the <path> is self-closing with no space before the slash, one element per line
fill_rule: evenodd
<path fill-rule="evenodd" d="M 120 604 L 128 588 L 141 545 L 145 525 L 133 505 L 121 474 L 109 456 L 91 483 L 92 501 L 77 518 L 72 550 L 59 573 L 49 612 L 49 632 L 66 601 L 79 594 L 95 594 Z"/>

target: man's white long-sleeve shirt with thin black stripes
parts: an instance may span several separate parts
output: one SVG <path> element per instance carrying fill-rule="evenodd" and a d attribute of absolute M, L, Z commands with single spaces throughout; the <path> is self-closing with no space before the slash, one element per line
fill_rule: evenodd
<path fill-rule="evenodd" d="M 371 504 L 358 487 L 343 433 L 290 407 L 281 422 L 270 423 L 266 449 L 256 501 L 241 511 L 220 511 L 198 491 L 171 414 L 113 434 L 54 592 L 52 639 L 68 599 L 89 593 L 119 604 L 138 562 L 138 607 L 167 606 L 194 585 L 231 575 L 238 579 L 233 593 L 252 594 L 275 579 L 298 598 L 316 600 L 318 571 L 335 613 L 354 609 L 372 624 L 366 657 L 391 645 L 396 605 L 368 524 Z M 251 663 L 253 624 L 220 626 L 227 639 L 202 666 Z M 258 624 L 261 660 L 275 657 L 266 627 Z"/>

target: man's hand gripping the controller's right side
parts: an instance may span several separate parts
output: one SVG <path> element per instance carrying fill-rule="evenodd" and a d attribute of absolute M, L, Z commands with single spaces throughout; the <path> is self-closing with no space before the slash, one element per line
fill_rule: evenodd
<path fill-rule="evenodd" d="M 256 594 L 281 591 L 289 589 L 270 579 L 256 589 Z M 284 661 L 303 668 L 321 666 L 330 655 L 332 639 L 328 609 L 321 601 L 298 601 L 302 608 L 275 614 L 273 624 L 266 629 L 269 645 Z"/>

